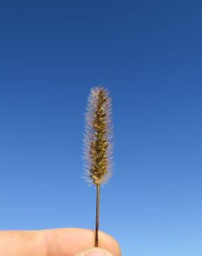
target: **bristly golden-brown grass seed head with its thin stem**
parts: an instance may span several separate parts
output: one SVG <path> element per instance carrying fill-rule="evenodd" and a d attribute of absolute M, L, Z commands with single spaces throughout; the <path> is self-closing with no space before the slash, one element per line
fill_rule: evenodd
<path fill-rule="evenodd" d="M 107 89 L 95 86 L 86 107 L 84 134 L 84 177 L 97 191 L 95 246 L 98 246 L 100 185 L 111 176 L 111 138 L 111 98 Z"/>

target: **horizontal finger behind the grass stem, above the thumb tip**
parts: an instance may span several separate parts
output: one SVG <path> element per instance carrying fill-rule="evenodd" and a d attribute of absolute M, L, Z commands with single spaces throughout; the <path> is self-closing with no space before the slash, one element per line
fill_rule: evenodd
<path fill-rule="evenodd" d="M 34 231 L 0 231 L 0 255 L 3 256 L 73 256 L 94 246 L 93 230 L 58 228 Z M 114 256 L 120 248 L 113 237 L 99 232 L 99 247 Z"/>

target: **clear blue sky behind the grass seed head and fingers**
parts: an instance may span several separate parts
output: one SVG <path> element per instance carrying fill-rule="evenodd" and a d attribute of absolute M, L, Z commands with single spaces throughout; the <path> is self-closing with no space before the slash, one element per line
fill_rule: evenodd
<path fill-rule="evenodd" d="M 123 255 L 202 255 L 201 1 L 1 1 L 0 228 L 94 228 L 92 86 L 113 100 L 100 229 Z"/>

